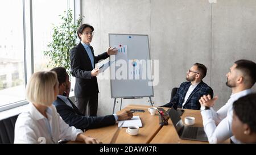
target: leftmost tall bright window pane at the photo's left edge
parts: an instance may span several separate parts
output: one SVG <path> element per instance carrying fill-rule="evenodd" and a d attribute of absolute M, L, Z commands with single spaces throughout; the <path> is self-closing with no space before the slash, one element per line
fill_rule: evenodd
<path fill-rule="evenodd" d="M 0 1 L 0 16 L 1 107 L 5 104 L 24 100 L 22 1 Z"/>

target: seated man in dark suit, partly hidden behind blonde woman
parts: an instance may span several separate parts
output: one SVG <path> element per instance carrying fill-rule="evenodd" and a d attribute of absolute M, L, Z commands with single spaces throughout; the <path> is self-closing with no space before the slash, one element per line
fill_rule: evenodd
<path fill-rule="evenodd" d="M 53 102 L 53 105 L 56 107 L 61 118 L 69 126 L 84 130 L 114 125 L 117 120 L 133 118 L 133 114 L 130 111 L 125 111 L 120 115 L 114 114 L 101 117 L 82 115 L 75 104 L 68 98 L 71 82 L 69 82 L 69 76 L 65 68 L 57 67 L 51 71 L 57 73 L 59 81 L 59 95 L 57 95 L 57 99 Z"/>

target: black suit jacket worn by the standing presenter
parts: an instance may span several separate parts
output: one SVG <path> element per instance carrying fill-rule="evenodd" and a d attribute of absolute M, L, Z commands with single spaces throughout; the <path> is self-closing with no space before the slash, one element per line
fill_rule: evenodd
<path fill-rule="evenodd" d="M 99 60 L 108 58 L 108 53 L 104 52 L 101 55 L 94 56 L 93 48 L 90 46 L 94 57 L 94 66 Z M 96 77 L 91 77 L 90 72 L 93 70 L 92 63 L 84 46 L 79 43 L 70 51 L 71 72 L 73 77 L 76 77 L 75 96 L 77 98 L 96 95 L 98 91 L 98 83 Z"/>

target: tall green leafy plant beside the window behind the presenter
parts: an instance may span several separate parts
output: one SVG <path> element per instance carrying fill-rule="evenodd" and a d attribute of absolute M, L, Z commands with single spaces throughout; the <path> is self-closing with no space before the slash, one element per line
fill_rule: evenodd
<path fill-rule="evenodd" d="M 52 41 L 47 45 L 49 50 L 43 53 L 51 59 L 47 67 L 62 66 L 71 76 L 69 51 L 77 44 L 76 32 L 82 22 L 82 16 L 76 20 L 76 23 L 73 20 L 72 10 L 64 11 L 64 15 L 59 16 L 61 16 L 62 22 L 59 26 L 53 24 Z"/>

